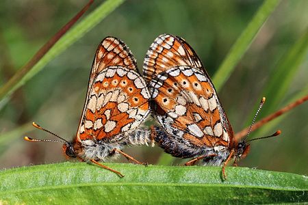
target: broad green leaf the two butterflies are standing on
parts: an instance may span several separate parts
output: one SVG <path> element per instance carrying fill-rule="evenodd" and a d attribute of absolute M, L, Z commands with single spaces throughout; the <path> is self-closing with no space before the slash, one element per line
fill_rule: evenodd
<path fill-rule="evenodd" d="M 0 172 L 0 203 L 242 204 L 308 202 L 307 176 L 244 167 L 168 167 L 106 163 L 124 178 L 86 163 Z"/>

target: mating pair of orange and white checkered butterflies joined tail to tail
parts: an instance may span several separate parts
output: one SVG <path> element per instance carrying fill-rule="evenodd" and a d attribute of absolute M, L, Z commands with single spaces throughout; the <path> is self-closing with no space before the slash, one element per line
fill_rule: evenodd
<path fill-rule="evenodd" d="M 144 59 L 144 79 L 125 43 L 105 38 L 94 57 L 77 135 L 72 142 L 59 137 L 66 155 L 123 176 L 98 161 L 119 153 L 140 163 L 121 149 L 155 140 L 172 156 L 194 158 L 185 165 L 223 164 L 225 177 L 227 163 L 247 154 L 247 141 L 235 141 L 214 85 L 185 40 L 169 34 L 156 38 Z M 140 126 L 151 109 L 160 126 L 150 133 Z"/>

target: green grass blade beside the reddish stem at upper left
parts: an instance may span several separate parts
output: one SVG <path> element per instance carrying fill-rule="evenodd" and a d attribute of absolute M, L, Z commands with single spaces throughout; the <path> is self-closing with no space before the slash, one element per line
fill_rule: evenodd
<path fill-rule="evenodd" d="M 60 55 L 65 49 L 68 48 L 71 44 L 76 42 L 79 38 L 84 36 L 84 34 L 92 27 L 97 25 L 103 18 L 105 18 L 108 14 L 114 11 L 124 0 L 107 0 L 101 3 L 99 7 L 88 14 L 83 20 L 75 25 L 72 29 L 70 29 L 60 40 L 38 61 L 38 63 L 27 72 L 23 79 L 16 82 L 16 84 L 10 88 L 5 93 L 1 93 L 2 98 L 7 97 L 12 94 L 18 87 L 24 85 L 29 79 L 34 77 L 46 64 L 48 64 L 52 59 L 54 59 L 57 55 Z"/>

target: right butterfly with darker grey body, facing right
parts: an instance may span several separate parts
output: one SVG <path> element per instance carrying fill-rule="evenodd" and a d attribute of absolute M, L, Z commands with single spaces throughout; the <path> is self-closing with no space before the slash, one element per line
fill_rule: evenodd
<path fill-rule="evenodd" d="M 203 165 L 222 165 L 227 178 L 227 163 L 235 159 L 236 165 L 250 145 L 233 137 L 215 87 L 192 47 L 183 38 L 162 34 L 151 44 L 143 67 L 160 124 L 152 127 L 152 138 L 172 156 L 193 158 L 185 165 L 201 160 Z"/>

